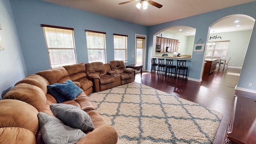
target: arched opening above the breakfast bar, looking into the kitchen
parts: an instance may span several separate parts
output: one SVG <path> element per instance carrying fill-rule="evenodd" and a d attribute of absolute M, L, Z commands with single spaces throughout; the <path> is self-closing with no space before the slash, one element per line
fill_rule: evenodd
<path fill-rule="evenodd" d="M 188 55 L 192 56 L 196 29 L 188 26 L 172 26 L 165 28 L 153 38 L 152 56 Z"/>

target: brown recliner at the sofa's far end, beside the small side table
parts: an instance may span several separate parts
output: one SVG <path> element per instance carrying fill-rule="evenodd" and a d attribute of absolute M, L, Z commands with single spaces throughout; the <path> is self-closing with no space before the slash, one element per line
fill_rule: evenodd
<path fill-rule="evenodd" d="M 110 68 L 112 70 L 111 73 L 117 73 L 121 76 L 121 85 L 128 84 L 134 81 L 134 72 L 135 70 L 132 68 L 126 68 L 126 65 L 122 60 L 113 60 L 109 62 Z"/>

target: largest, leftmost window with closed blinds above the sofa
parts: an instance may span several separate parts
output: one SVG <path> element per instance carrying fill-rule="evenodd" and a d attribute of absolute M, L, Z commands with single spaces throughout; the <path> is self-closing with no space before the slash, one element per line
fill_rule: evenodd
<path fill-rule="evenodd" d="M 50 67 L 76 64 L 74 29 L 41 24 L 44 29 Z"/>

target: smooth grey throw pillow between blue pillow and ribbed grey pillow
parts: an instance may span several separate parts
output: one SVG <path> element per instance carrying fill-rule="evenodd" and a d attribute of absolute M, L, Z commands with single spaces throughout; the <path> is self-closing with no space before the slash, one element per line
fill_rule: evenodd
<path fill-rule="evenodd" d="M 94 129 L 90 116 L 77 106 L 70 104 L 51 104 L 54 116 L 72 128 L 79 128 L 86 132 Z"/>

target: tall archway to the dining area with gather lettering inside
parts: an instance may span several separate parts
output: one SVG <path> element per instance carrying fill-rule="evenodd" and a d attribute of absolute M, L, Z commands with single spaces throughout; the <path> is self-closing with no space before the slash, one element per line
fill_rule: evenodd
<path fill-rule="evenodd" d="M 215 73 L 238 76 L 235 78 L 238 82 L 254 22 L 255 19 L 250 16 L 234 14 L 220 18 L 210 26 L 205 56 L 206 58 L 222 59 L 217 64 Z M 203 74 L 202 80 L 208 78 L 205 76 L 208 74 L 206 69 L 204 69 Z"/>

